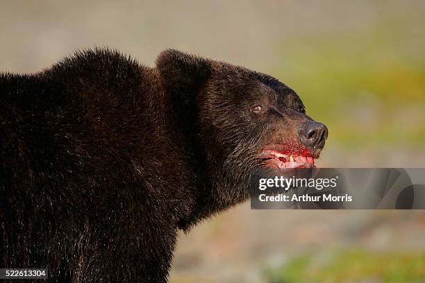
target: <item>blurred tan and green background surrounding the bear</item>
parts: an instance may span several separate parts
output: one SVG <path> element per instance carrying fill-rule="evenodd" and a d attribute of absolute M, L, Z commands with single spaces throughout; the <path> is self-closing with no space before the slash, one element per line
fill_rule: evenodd
<path fill-rule="evenodd" d="M 263 71 L 328 126 L 322 167 L 425 167 L 425 1 L 0 0 L 0 71 L 109 46 Z M 425 282 L 425 212 L 254 211 L 181 234 L 170 282 Z"/>

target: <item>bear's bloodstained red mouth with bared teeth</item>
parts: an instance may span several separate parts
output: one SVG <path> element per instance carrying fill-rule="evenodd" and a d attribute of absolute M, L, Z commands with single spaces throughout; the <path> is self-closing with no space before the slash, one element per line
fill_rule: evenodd
<path fill-rule="evenodd" d="M 264 166 L 275 169 L 316 168 L 315 157 L 307 151 L 289 153 L 288 151 L 265 149 L 256 158 L 262 160 Z"/>

